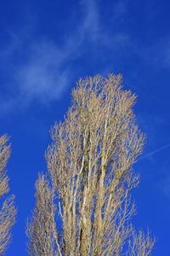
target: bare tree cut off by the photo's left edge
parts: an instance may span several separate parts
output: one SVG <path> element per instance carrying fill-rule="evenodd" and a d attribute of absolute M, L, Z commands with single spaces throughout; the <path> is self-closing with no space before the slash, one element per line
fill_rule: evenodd
<path fill-rule="evenodd" d="M 8 137 L 0 137 L 0 197 L 8 193 L 8 177 L 6 175 L 6 165 L 10 155 L 10 145 Z M 0 254 L 6 252 L 8 243 L 11 241 L 11 227 L 14 225 L 16 208 L 14 207 L 14 195 L 9 196 L 0 210 Z"/>

